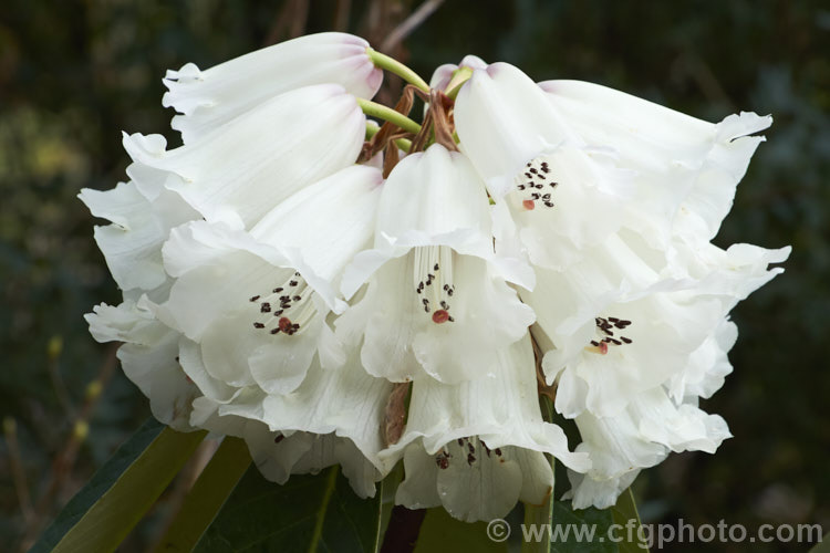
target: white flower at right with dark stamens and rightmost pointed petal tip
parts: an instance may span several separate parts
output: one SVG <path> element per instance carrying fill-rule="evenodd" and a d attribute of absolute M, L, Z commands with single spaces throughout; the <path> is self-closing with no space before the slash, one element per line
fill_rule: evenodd
<path fill-rule="evenodd" d="M 735 304 L 782 271 L 768 265 L 789 251 L 676 239 L 666 255 L 612 234 L 566 272 L 537 268 L 536 289 L 521 298 L 537 314 L 548 383 L 558 378 L 557 410 L 612 416 L 676 378 L 689 356 L 705 355 L 704 342 L 717 343 L 713 333 Z"/>

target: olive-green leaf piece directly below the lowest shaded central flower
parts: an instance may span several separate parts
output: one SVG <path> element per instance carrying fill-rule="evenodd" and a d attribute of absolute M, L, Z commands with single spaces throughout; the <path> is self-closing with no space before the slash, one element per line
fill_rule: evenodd
<path fill-rule="evenodd" d="M 486 522 L 461 522 L 438 507 L 427 510 L 415 545 L 415 553 L 436 551 L 506 553 L 508 547 L 507 541 L 498 542 L 488 538 Z"/>

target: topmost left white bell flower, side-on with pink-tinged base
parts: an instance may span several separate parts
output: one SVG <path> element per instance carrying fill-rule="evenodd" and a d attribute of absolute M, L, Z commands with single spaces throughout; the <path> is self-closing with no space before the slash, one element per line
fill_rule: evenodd
<path fill-rule="evenodd" d="M 339 84 L 349 94 L 371 98 L 383 72 L 370 60 L 369 43 L 345 33 L 300 36 L 250 52 L 201 71 L 193 63 L 167 71 L 169 92 L 162 100 L 181 115 L 173 128 L 185 144 L 198 140 L 269 98 L 313 84 Z"/>

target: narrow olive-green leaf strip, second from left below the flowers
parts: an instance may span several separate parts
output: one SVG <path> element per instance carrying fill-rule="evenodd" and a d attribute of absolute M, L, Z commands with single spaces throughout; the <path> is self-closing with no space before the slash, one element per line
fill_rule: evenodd
<path fill-rule="evenodd" d="M 193 551 L 250 463 L 245 440 L 226 437 L 185 497 L 156 551 Z"/>

